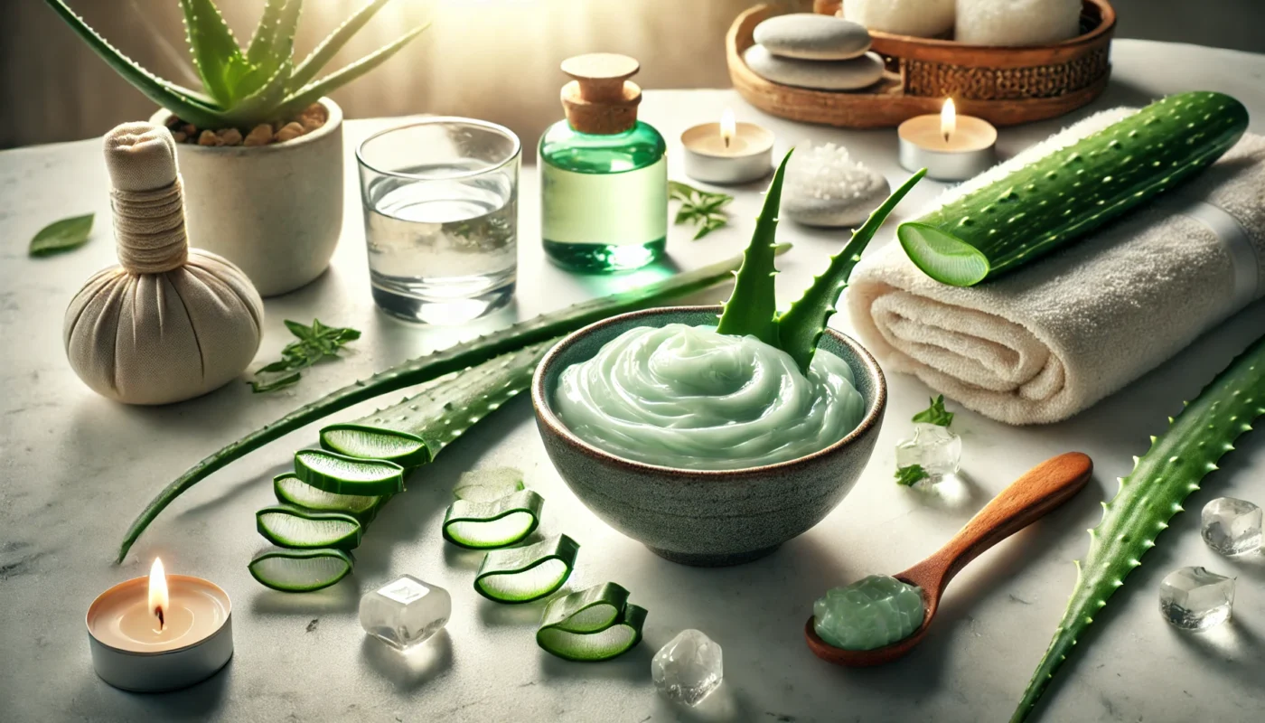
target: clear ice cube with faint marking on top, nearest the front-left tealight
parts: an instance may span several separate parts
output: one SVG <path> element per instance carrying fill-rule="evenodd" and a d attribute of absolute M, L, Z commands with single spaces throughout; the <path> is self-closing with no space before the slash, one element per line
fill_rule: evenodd
<path fill-rule="evenodd" d="M 453 614 L 448 590 L 401 575 L 361 598 L 361 627 L 396 650 L 409 650 L 438 633 Z"/>

